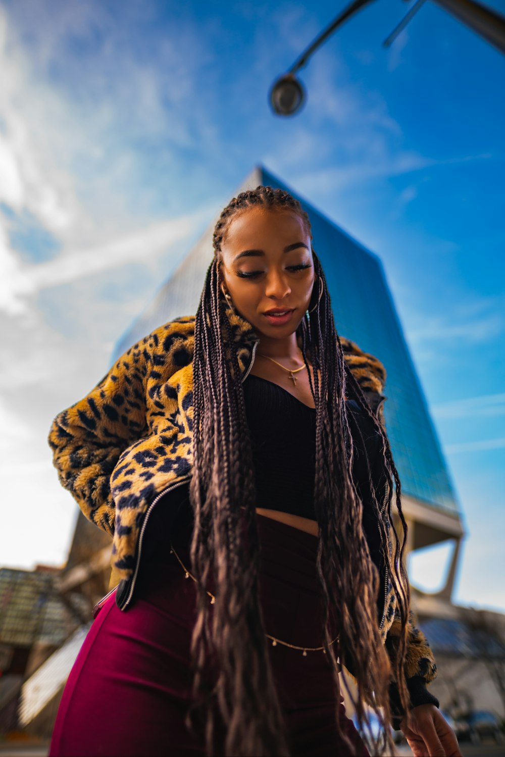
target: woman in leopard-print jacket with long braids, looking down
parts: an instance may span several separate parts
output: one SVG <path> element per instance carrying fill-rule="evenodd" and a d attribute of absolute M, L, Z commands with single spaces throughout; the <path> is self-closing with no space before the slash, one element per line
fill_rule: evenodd
<path fill-rule="evenodd" d="M 416 755 L 459 755 L 426 690 L 391 521 L 385 370 L 335 331 L 307 213 L 258 186 L 221 213 L 195 316 L 60 413 L 61 483 L 117 587 L 70 673 L 56 755 L 367 755 L 338 671 Z M 392 533 L 392 538 L 391 538 Z M 186 580 L 187 579 L 187 580 Z M 340 659 L 340 662 L 338 662 Z"/>

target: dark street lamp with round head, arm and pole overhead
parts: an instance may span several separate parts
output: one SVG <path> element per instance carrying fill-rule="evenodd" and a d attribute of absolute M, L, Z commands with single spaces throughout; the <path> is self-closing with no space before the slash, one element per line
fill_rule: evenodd
<path fill-rule="evenodd" d="M 351 5 L 344 8 L 344 11 L 314 39 L 312 44 L 301 54 L 288 72 L 279 76 L 279 79 L 276 79 L 269 93 L 270 105 L 274 113 L 278 116 L 294 116 L 301 110 L 301 107 L 305 103 L 306 95 L 304 86 L 295 74 L 307 65 L 313 52 L 323 42 L 326 42 L 326 39 L 331 36 L 338 26 L 341 26 L 345 20 L 370 2 L 373 2 L 373 0 L 354 0 L 354 2 L 351 2 Z M 388 39 L 385 39 L 385 42 L 382 43 L 384 47 L 391 45 L 391 42 L 407 26 L 407 23 L 419 11 L 424 2 L 425 0 L 417 0 L 414 3 L 404 19 L 401 20 L 396 29 L 388 36 Z M 444 10 L 452 13 L 460 21 L 463 21 L 463 23 L 466 23 L 472 30 L 479 33 L 484 39 L 487 39 L 488 42 L 491 42 L 492 45 L 505 53 L 505 18 L 499 13 L 492 11 L 491 8 L 486 8 L 485 5 L 481 5 L 476 0 L 434 0 L 434 2 L 440 5 L 441 8 L 444 8 Z"/>

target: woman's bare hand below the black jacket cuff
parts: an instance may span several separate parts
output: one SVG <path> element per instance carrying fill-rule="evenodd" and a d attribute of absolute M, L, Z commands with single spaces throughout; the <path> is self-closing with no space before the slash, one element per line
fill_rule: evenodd
<path fill-rule="evenodd" d="M 454 731 L 435 705 L 413 707 L 400 727 L 414 757 L 462 757 Z"/>

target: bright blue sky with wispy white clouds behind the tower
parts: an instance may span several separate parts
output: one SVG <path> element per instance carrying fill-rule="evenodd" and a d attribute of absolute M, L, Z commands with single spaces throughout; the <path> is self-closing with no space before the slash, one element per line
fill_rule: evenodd
<path fill-rule="evenodd" d="M 64 562 L 51 419 L 261 163 L 381 257 L 463 509 L 454 599 L 505 609 L 505 58 L 434 2 L 383 48 L 408 7 L 345 23 L 282 119 L 273 80 L 344 3 L 0 0 L 3 564 Z"/>

